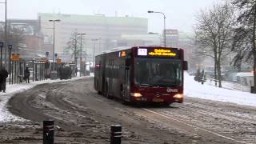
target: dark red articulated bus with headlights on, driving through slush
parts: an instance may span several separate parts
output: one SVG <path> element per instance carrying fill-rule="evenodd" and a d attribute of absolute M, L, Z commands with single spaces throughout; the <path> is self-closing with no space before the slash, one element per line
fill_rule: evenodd
<path fill-rule="evenodd" d="M 183 102 L 182 49 L 158 46 L 118 48 L 95 57 L 94 89 L 122 102 Z"/>

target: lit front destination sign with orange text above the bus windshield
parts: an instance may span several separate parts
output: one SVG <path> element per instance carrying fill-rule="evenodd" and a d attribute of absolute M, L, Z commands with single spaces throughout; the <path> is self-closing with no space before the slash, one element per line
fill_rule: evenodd
<path fill-rule="evenodd" d="M 177 58 L 178 50 L 163 49 L 163 48 L 152 48 L 152 49 L 138 48 L 138 56 Z"/>

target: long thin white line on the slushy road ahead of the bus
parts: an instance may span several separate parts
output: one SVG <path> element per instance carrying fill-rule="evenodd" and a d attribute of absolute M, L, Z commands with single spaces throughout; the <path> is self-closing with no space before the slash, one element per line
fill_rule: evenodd
<path fill-rule="evenodd" d="M 199 130 L 206 131 L 206 132 L 208 132 L 208 133 L 210 133 L 210 134 L 218 135 L 219 137 L 226 138 L 226 139 L 229 139 L 229 140 L 234 141 L 234 142 L 238 142 L 238 143 L 242 143 L 242 144 L 250 144 L 250 143 L 246 143 L 246 142 L 239 142 L 239 141 L 237 141 L 237 140 L 235 140 L 235 139 L 233 139 L 233 138 L 226 137 L 226 136 L 224 136 L 224 135 L 222 135 L 222 134 L 218 134 L 218 133 L 215 133 L 215 132 L 213 132 L 213 131 L 209 131 L 209 130 L 203 129 L 203 128 L 200 128 L 200 127 L 198 127 L 198 126 L 190 125 L 190 124 L 188 124 L 188 123 L 186 123 L 186 122 L 182 122 L 182 121 L 180 121 L 180 120 L 178 120 L 178 119 L 176 119 L 176 118 L 170 118 L 170 117 L 168 117 L 168 116 L 166 116 L 166 115 L 164 115 L 164 114 L 159 114 L 159 113 L 154 112 L 154 111 L 152 111 L 152 110 L 148 110 L 148 109 L 143 109 L 143 110 L 146 110 L 146 111 L 148 111 L 148 112 L 150 112 L 150 113 L 153 113 L 153 114 L 158 114 L 158 115 L 160 115 L 160 116 L 162 116 L 162 117 L 164 117 L 164 118 L 168 118 L 168 119 L 174 120 L 174 121 L 176 121 L 176 122 L 181 122 L 181 123 L 185 124 L 186 126 L 194 127 L 194 128 L 199 129 Z"/>

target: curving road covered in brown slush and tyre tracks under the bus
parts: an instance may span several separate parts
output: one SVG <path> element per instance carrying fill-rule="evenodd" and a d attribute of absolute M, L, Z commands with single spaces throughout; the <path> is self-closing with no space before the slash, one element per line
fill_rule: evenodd
<path fill-rule="evenodd" d="M 54 119 L 62 129 L 58 142 L 78 142 L 74 138 L 81 134 L 81 142 L 104 143 L 108 126 L 117 123 L 123 126 L 124 143 L 256 142 L 254 107 L 190 97 L 169 107 L 123 106 L 98 95 L 93 78 L 36 86 L 12 98 L 10 110 L 32 122 Z"/>

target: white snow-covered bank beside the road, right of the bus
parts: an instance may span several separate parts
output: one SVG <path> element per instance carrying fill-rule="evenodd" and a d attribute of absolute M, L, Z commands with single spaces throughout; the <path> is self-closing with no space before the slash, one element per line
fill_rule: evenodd
<path fill-rule="evenodd" d="M 243 106 L 256 106 L 256 94 L 202 85 L 199 82 L 195 82 L 194 77 L 187 73 L 184 74 L 184 77 L 184 93 L 186 97 L 232 102 Z"/>

